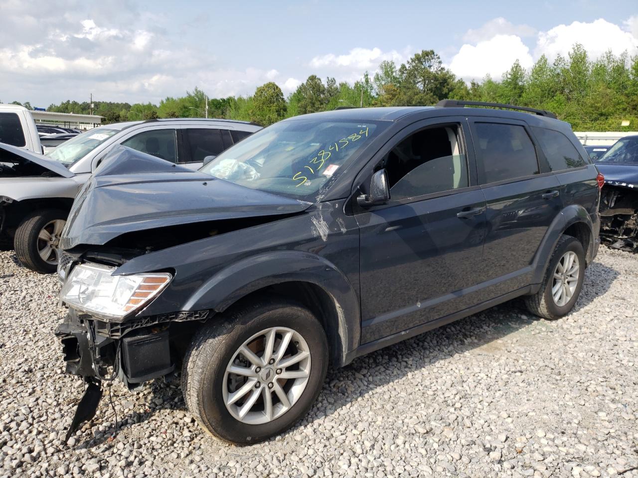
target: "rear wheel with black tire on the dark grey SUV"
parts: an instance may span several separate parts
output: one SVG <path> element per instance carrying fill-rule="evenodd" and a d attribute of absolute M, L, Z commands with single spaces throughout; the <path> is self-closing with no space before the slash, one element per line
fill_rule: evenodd
<path fill-rule="evenodd" d="M 563 299 L 562 301 L 557 301 L 554 298 L 552 289 L 553 287 L 556 287 L 556 284 L 561 282 L 561 279 L 556 279 L 556 281 L 554 281 L 554 273 L 561 275 L 561 271 L 557 269 L 558 265 L 560 263 L 561 266 L 563 266 L 565 260 L 563 257 L 567 257 L 566 254 L 569 253 L 575 254 L 578 270 L 570 275 L 568 278 L 570 279 L 570 282 L 566 283 L 566 287 L 569 287 L 568 284 L 573 284 L 574 282 L 575 287 L 573 292 L 571 292 L 571 295 L 567 293 L 567 295 L 561 296 Z M 525 305 L 528 310 L 539 317 L 552 320 L 563 317 L 563 315 L 567 315 L 574 307 L 574 304 L 581 293 L 582 282 L 585 275 L 585 266 L 585 252 L 582 249 L 582 244 L 579 240 L 572 236 L 561 236 L 558 243 L 556 243 L 551 259 L 549 259 L 549 265 L 547 266 L 547 271 L 545 271 L 545 278 L 540 285 L 540 289 L 538 289 L 536 294 L 524 297 Z M 559 294 L 563 293 L 559 291 Z"/>

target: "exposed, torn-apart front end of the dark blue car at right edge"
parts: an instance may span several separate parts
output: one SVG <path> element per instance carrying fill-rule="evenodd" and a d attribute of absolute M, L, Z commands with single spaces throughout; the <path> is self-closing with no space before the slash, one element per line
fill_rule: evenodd
<path fill-rule="evenodd" d="M 638 252 L 638 188 L 605 182 L 600 194 L 600 239 L 620 250 Z"/>

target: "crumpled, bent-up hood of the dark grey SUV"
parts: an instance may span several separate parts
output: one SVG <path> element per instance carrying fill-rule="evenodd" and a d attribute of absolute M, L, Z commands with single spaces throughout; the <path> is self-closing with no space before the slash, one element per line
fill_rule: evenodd
<path fill-rule="evenodd" d="M 294 214 L 309 206 L 118 147 L 75 199 L 60 245 L 103 245 L 134 231 Z"/>

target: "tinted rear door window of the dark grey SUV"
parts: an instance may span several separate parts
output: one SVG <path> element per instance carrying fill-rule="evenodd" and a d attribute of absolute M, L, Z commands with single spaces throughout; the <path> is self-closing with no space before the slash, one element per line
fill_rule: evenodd
<path fill-rule="evenodd" d="M 475 130 L 480 184 L 538 174 L 536 150 L 523 126 L 475 123 Z"/>

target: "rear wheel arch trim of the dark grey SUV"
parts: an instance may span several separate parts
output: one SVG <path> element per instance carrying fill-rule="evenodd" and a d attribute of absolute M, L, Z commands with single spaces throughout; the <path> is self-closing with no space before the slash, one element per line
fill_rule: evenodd
<path fill-rule="evenodd" d="M 591 222 L 590 214 L 581 205 L 569 205 L 566 208 L 563 208 L 560 214 L 557 214 L 556 217 L 554 217 L 554 221 L 552 221 L 549 228 L 547 228 L 547 232 L 540 243 L 540 247 L 538 247 L 532 264 L 534 270 L 533 284 L 540 284 L 543 281 L 545 270 L 547 270 L 549 259 L 551 259 L 552 252 L 554 247 L 556 247 L 558 239 L 565 232 L 565 229 L 577 222 L 584 223 L 590 231 L 590 247 L 588 247 L 588 250 L 585 251 L 585 256 L 588 263 L 591 261 L 595 237 L 593 235 L 594 225 L 593 222 Z"/>

